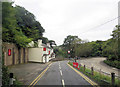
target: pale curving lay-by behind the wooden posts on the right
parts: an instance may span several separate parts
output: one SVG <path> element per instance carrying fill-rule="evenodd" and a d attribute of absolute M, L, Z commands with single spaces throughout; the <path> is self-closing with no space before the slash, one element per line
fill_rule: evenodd
<path fill-rule="evenodd" d="M 82 65 L 86 65 L 86 67 L 91 68 L 94 67 L 95 70 L 111 73 L 114 72 L 117 76 L 120 75 L 120 69 L 108 66 L 103 61 L 106 60 L 105 57 L 93 57 L 93 58 L 81 58 L 78 62 Z"/>

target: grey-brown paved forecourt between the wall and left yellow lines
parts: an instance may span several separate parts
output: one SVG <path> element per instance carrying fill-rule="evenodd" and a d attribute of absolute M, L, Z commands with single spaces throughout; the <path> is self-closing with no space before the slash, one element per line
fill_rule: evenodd
<path fill-rule="evenodd" d="M 37 77 L 51 62 L 42 63 L 26 63 L 9 67 L 10 73 L 13 73 L 17 79 L 24 85 L 29 85 L 33 79 Z"/>

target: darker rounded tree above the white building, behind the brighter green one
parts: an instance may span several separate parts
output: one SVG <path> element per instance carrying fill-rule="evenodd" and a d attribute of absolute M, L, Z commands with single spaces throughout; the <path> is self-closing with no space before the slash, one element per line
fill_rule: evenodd
<path fill-rule="evenodd" d="M 41 39 L 45 31 L 41 24 L 36 21 L 35 16 L 27 11 L 24 7 L 16 6 L 16 20 L 18 27 L 28 37 L 33 38 L 33 41 Z"/>

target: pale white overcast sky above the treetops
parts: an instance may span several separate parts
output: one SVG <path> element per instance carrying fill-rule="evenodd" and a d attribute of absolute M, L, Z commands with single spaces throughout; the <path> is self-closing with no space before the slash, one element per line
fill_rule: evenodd
<path fill-rule="evenodd" d="M 36 16 L 45 29 L 44 37 L 63 44 L 68 35 L 83 40 L 111 38 L 118 20 L 97 27 L 118 16 L 119 0 L 14 0 Z"/>

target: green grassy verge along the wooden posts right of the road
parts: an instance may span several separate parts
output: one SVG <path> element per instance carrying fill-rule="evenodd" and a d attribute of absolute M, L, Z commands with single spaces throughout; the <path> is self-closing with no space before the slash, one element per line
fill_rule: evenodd
<path fill-rule="evenodd" d="M 73 66 L 72 62 L 69 62 L 68 64 Z M 85 74 L 86 76 L 88 76 L 93 81 L 97 82 L 101 86 L 108 86 L 108 85 L 110 86 L 111 85 L 111 77 L 110 76 L 106 76 L 106 75 L 101 74 L 100 72 L 96 72 L 96 71 L 94 71 L 94 75 L 92 75 L 91 70 L 88 68 L 85 68 L 85 71 L 84 71 L 83 66 L 80 66 L 79 71 L 82 72 L 83 74 Z M 119 86 L 120 86 L 120 80 L 118 78 L 115 78 L 114 87 L 119 87 Z M 112 86 L 110 86 L 110 87 L 112 87 Z"/>

